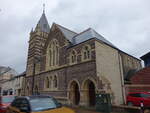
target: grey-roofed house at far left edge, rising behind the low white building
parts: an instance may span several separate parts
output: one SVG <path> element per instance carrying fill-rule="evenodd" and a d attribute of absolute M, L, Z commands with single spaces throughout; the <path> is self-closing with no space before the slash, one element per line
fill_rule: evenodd
<path fill-rule="evenodd" d="M 0 66 L 0 94 L 2 90 L 2 84 L 16 75 L 17 72 L 14 69 L 10 67 Z"/>

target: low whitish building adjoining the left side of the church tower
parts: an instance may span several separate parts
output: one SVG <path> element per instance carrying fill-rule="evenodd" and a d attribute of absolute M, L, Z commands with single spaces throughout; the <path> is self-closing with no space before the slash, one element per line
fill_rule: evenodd
<path fill-rule="evenodd" d="M 22 94 L 22 83 L 25 77 L 25 72 L 5 80 L 2 84 L 2 95 L 16 95 Z"/>

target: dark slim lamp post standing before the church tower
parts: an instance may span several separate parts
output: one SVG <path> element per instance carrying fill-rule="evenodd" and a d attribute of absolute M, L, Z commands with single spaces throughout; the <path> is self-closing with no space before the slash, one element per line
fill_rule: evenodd
<path fill-rule="evenodd" d="M 33 60 L 33 75 L 32 75 L 32 95 L 34 95 L 34 82 L 35 82 L 35 66 L 36 66 L 36 63 L 40 62 L 40 58 L 39 57 L 34 57 L 34 60 Z"/>

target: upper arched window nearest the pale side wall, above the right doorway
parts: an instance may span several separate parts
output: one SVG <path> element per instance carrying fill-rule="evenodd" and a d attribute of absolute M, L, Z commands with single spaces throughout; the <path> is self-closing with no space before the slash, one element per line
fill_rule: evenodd
<path fill-rule="evenodd" d="M 91 48 L 89 46 L 84 46 L 82 51 L 82 60 L 91 59 Z"/>

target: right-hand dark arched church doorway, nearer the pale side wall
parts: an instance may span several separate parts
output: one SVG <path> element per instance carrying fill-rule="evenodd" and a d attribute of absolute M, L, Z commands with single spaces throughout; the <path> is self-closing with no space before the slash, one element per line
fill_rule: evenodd
<path fill-rule="evenodd" d="M 91 80 L 86 80 L 83 84 L 83 90 L 84 90 L 84 102 L 88 106 L 94 106 L 95 105 L 95 84 Z"/>

